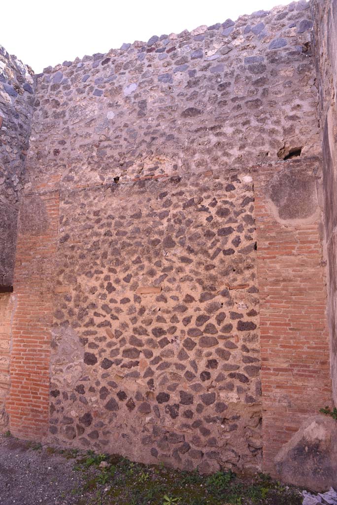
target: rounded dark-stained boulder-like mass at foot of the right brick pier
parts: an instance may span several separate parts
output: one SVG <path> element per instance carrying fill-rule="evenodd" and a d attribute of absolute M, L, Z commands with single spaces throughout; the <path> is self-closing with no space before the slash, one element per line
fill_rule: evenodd
<path fill-rule="evenodd" d="M 314 491 L 337 487 L 337 421 L 308 418 L 275 458 L 278 478 Z"/>

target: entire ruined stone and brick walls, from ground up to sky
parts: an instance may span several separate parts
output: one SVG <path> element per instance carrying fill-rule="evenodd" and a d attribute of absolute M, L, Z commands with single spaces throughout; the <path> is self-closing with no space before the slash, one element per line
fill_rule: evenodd
<path fill-rule="evenodd" d="M 337 0 L 0 47 L 2 431 L 337 485 L 336 92 Z"/>

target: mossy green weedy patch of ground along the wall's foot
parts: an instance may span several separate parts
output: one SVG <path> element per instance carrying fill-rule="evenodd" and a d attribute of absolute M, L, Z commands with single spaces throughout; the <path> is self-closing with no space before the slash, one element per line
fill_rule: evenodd
<path fill-rule="evenodd" d="M 102 464 L 104 464 L 102 468 Z M 243 478 L 232 470 L 201 475 L 198 470 L 180 472 L 133 463 L 117 455 L 77 458 L 74 470 L 81 472 L 84 495 L 91 505 L 300 505 L 296 488 L 282 486 L 268 475 Z"/>

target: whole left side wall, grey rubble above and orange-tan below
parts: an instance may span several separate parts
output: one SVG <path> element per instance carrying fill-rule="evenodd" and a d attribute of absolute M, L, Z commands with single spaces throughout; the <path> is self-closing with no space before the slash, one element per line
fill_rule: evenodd
<path fill-rule="evenodd" d="M 19 197 L 33 112 L 32 70 L 0 46 L 0 426 L 10 377 L 11 322 L 15 298 L 2 292 L 13 284 Z"/>

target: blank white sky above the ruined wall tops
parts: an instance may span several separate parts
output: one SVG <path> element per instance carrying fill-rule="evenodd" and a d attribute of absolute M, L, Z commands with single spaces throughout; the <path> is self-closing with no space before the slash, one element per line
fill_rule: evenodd
<path fill-rule="evenodd" d="M 290 0 L 0 0 L 0 44 L 36 73 L 123 42 L 234 21 Z"/>

